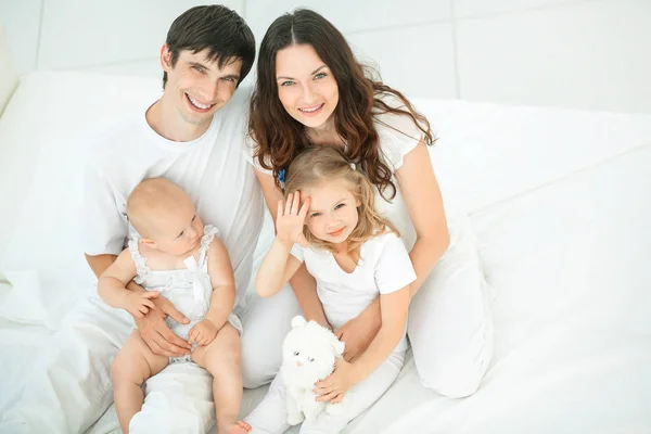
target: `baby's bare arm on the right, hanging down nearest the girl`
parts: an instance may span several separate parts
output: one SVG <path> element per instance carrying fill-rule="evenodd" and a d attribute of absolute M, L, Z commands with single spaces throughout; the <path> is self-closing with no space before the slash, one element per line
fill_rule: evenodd
<path fill-rule="evenodd" d="M 210 307 L 205 319 L 210 320 L 217 330 L 221 329 L 235 304 L 235 278 L 226 246 L 215 238 L 207 251 L 208 275 L 213 284 Z"/>

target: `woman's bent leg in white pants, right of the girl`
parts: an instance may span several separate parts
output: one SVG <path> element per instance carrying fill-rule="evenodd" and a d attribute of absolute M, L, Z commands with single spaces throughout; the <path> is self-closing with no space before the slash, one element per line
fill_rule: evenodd
<path fill-rule="evenodd" d="M 484 280 L 468 218 L 448 221 L 450 245 L 409 307 L 408 336 L 421 383 L 472 395 L 493 358 L 493 289 Z"/>

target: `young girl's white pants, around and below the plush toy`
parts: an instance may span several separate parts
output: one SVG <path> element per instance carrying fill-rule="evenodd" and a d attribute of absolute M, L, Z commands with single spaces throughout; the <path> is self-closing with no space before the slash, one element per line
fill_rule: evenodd
<path fill-rule="evenodd" d="M 341 432 L 348 422 L 380 399 L 398 378 L 404 362 L 405 352 L 388 356 L 372 374 L 353 387 L 350 401 L 346 403 L 342 414 L 332 416 L 322 411 L 316 420 L 303 422 L 301 433 L 334 434 Z M 290 427 L 282 375 L 276 376 L 265 399 L 244 420 L 253 427 L 250 434 L 281 434 Z"/>

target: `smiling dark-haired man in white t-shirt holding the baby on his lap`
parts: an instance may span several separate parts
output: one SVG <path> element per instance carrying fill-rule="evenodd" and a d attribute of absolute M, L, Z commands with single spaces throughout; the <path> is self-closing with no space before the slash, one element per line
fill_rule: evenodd
<path fill-rule="evenodd" d="M 264 204 L 252 166 L 242 152 L 248 92 L 238 90 L 254 58 L 253 34 L 235 12 L 206 5 L 180 15 L 161 49 L 161 99 L 93 144 L 85 186 L 86 225 L 81 229 L 86 258 L 99 277 L 133 231 L 126 217 L 126 197 L 131 190 L 152 177 L 165 177 L 179 184 L 202 219 L 218 228 L 230 255 L 238 291 L 234 312 L 244 330 L 241 348 L 245 387 L 259 386 L 275 376 L 290 320 L 301 310 L 289 288 L 280 296 L 256 299 L 244 309 Z M 129 289 L 143 291 L 133 282 Z M 157 309 L 131 318 L 97 296 L 81 301 L 64 321 L 49 357 L 34 368 L 22 399 L 4 414 L 0 432 L 71 433 L 89 429 L 113 401 L 111 365 L 133 324 L 155 354 L 188 354 L 190 344 L 171 333 L 165 317 L 180 322 L 187 319 L 165 298 L 156 298 L 155 304 Z M 174 373 L 169 375 L 178 380 Z M 205 383 L 209 399 L 209 379 L 199 372 L 196 376 Z M 142 418 L 146 419 L 143 413 L 165 407 L 164 414 L 150 416 L 149 420 L 170 421 L 174 426 L 166 425 L 167 432 L 207 429 L 201 425 L 212 420 L 212 409 L 203 392 L 194 388 L 192 394 L 184 392 L 188 396 L 178 396 L 178 385 L 174 391 L 151 387 L 168 401 L 161 407 L 145 401 L 139 426 L 144 423 Z M 190 388 L 184 383 L 181 395 Z M 138 420 L 137 414 L 131 421 L 133 432 L 140 431 L 135 426 Z M 151 425 L 149 429 L 155 430 Z"/>

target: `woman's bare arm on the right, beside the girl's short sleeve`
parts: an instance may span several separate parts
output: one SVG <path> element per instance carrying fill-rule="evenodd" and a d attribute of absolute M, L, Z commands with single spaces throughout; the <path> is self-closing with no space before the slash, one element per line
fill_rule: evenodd
<path fill-rule="evenodd" d="M 396 177 L 417 235 L 409 253 L 417 276 L 410 285 L 413 296 L 450 242 L 441 189 L 423 140 L 405 155 Z"/>

